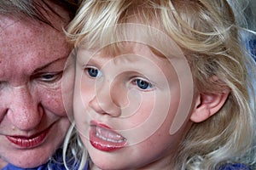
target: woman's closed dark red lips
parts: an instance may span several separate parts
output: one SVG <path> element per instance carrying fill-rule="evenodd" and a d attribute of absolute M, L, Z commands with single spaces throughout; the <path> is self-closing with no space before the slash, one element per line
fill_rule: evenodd
<path fill-rule="evenodd" d="M 49 133 L 49 129 L 51 127 L 47 128 L 41 133 L 38 133 L 38 135 L 33 136 L 31 138 L 23 137 L 23 136 L 6 136 L 9 141 L 20 148 L 23 149 L 29 149 L 37 147 L 40 144 L 44 143 L 44 140 L 46 139 L 47 134 Z"/>

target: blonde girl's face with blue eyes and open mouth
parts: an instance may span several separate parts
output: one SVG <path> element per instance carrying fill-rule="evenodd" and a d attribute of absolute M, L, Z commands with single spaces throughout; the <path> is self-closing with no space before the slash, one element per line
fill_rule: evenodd
<path fill-rule="evenodd" d="M 148 46 L 126 45 L 114 57 L 79 48 L 73 105 L 80 137 L 96 167 L 170 169 L 190 126 L 186 119 L 170 135 L 181 99 L 179 77 Z"/>

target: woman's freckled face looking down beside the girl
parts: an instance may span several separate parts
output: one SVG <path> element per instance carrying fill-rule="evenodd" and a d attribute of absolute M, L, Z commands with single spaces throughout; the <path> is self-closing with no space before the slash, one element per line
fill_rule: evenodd
<path fill-rule="evenodd" d="M 61 76 L 70 47 L 61 31 L 38 21 L 0 15 L 0 28 L 0 158 L 37 167 L 69 126 Z"/>

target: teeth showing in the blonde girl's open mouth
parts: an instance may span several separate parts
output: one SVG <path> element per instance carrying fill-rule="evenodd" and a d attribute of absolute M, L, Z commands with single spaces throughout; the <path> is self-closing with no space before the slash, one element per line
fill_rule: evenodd
<path fill-rule="evenodd" d="M 122 143 L 125 141 L 125 138 L 118 133 L 114 133 L 102 127 L 96 127 L 96 137 L 113 143 Z"/>

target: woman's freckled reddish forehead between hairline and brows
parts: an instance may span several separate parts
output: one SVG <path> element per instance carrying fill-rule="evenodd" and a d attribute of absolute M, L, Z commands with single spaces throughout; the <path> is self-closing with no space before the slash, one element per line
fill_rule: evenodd
<path fill-rule="evenodd" d="M 52 60 L 67 58 L 71 50 L 64 34 L 45 23 L 3 16 L 0 20 L 0 59 L 3 63 L 21 65 L 27 62 L 25 67 L 29 64 L 37 69 Z"/>

